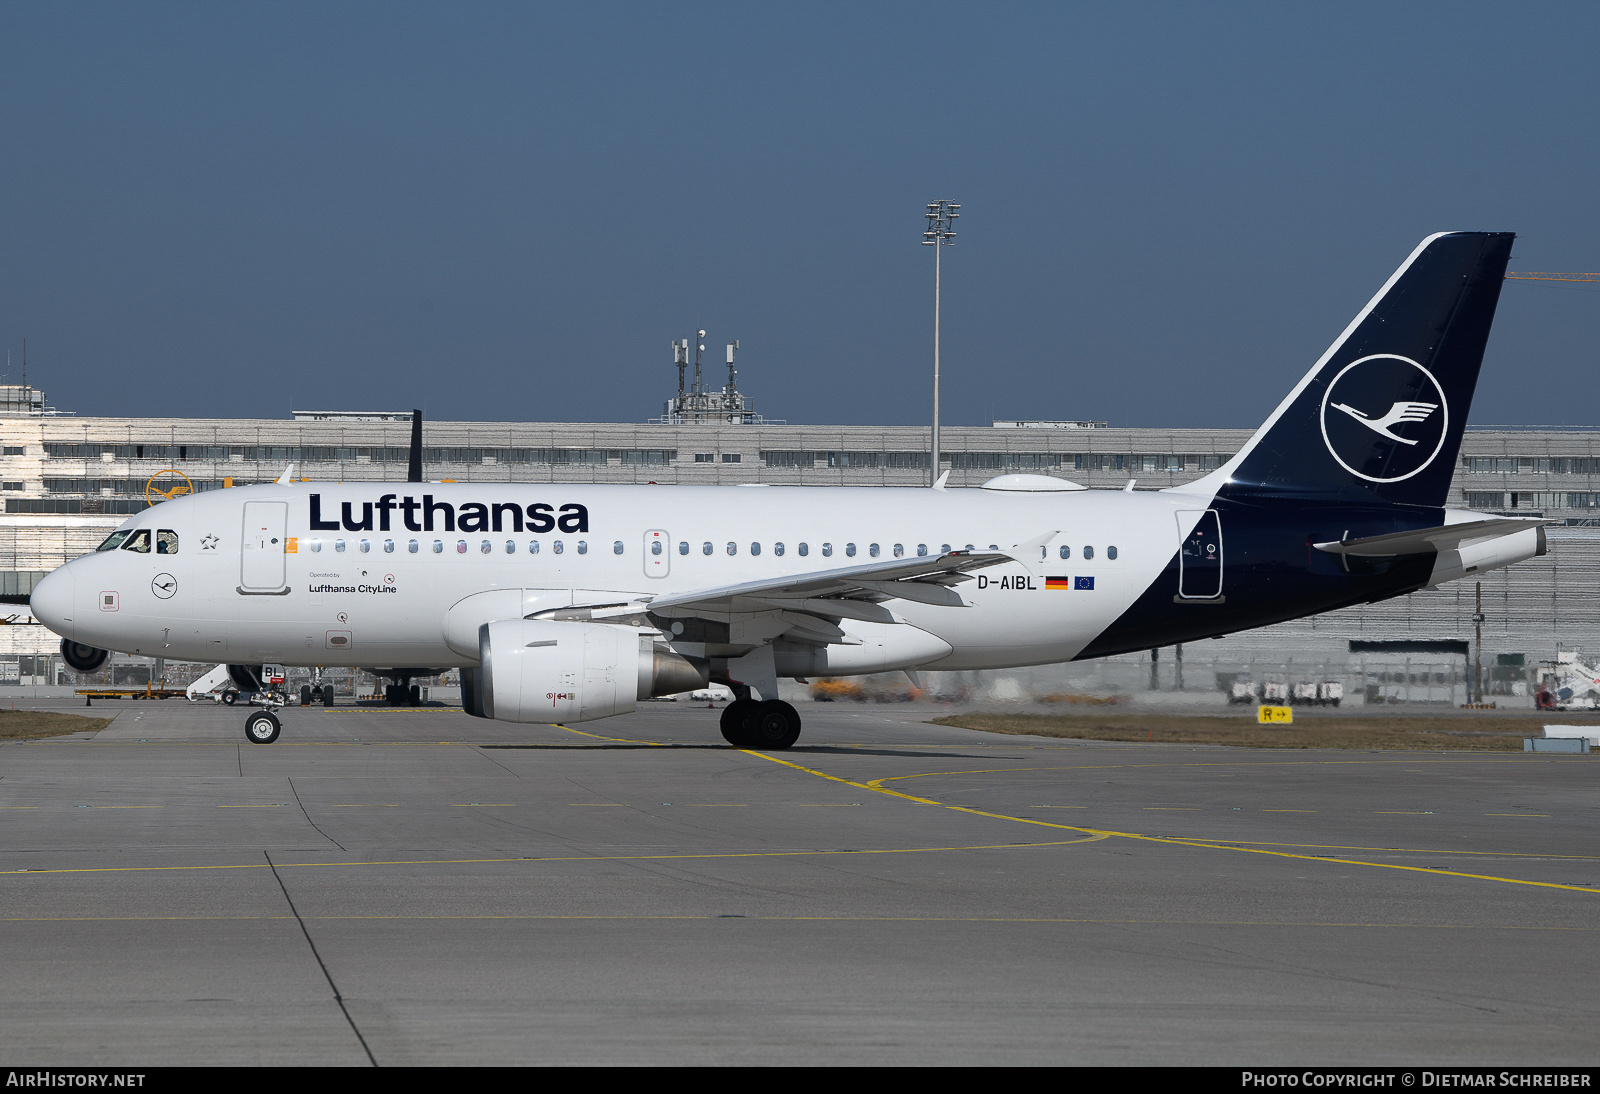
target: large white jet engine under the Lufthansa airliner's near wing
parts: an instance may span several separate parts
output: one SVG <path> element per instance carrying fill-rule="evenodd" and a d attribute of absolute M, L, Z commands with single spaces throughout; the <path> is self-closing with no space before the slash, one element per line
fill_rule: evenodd
<path fill-rule="evenodd" d="M 635 627 L 501 619 L 478 627 L 475 694 L 462 705 L 498 721 L 592 721 L 627 713 L 640 699 L 704 688 L 709 678 L 706 662 Z"/>

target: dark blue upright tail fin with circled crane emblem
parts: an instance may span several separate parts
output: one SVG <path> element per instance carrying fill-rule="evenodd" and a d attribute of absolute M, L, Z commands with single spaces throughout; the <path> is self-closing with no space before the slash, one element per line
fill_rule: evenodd
<path fill-rule="evenodd" d="M 1186 489 L 1443 505 L 1512 232 L 1442 232 L 1221 470 Z"/>

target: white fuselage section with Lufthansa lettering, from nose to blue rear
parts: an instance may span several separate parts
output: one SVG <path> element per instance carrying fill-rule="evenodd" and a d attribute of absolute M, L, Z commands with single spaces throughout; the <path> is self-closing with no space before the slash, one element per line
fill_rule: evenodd
<path fill-rule="evenodd" d="M 312 494 L 322 523 L 338 528 L 310 526 Z M 430 513 L 422 509 L 424 496 L 434 502 Z M 402 499 L 414 504 L 405 507 Z M 274 510 L 270 502 L 282 507 Z M 446 667 L 475 664 L 475 646 L 446 641 L 446 619 L 461 601 L 486 590 L 525 590 L 518 614 L 528 614 L 530 606 L 648 601 L 813 574 L 886 561 L 898 552 L 912 560 L 946 545 L 1013 550 L 1029 544 L 1018 552 L 1019 561 L 957 585 L 970 606 L 893 600 L 885 605 L 898 621 L 893 625 L 842 622 L 869 638 L 896 630 L 934 638 L 906 648 L 891 638 L 878 643 L 882 654 L 840 659 L 856 672 L 912 667 L 907 659 L 928 669 L 992 669 L 1077 656 L 1162 573 L 1208 502 L 1210 496 L 1173 491 L 1083 489 L 248 486 L 133 517 L 125 529 L 150 529 L 152 542 L 170 529 L 176 552 L 85 555 L 46 577 L 34 605 L 62 637 L 125 653 L 240 664 Z M 443 504 L 451 507 L 453 529 Z M 366 523 L 368 505 L 371 528 L 349 529 L 347 523 Z M 493 526 L 496 507 L 499 529 Z M 261 515 L 272 512 L 283 513 L 283 525 L 264 529 Z M 571 531 L 560 525 L 534 531 L 530 513 L 539 523 L 565 517 Z M 653 542 L 662 544 L 659 553 L 651 552 Z M 1046 585 L 1046 577 L 1069 581 Z M 470 621 L 474 632 L 477 622 L 490 619 Z"/>

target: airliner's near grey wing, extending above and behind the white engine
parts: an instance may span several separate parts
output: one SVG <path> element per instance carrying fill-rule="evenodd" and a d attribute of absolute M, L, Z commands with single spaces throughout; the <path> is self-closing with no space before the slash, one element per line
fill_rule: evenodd
<path fill-rule="evenodd" d="M 834 619 L 893 622 L 890 613 L 878 606 L 885 600 L 965 608 L 966 601 L 952 585 L 971 581 L 973 569 L 1008 561 L 1011 555 L 998 550 L 952 550 L 926 558 L 894 558 L 658 597 L 650 601 L 650 611 L 658 616 L 726 616 L 782 608 Z"/>

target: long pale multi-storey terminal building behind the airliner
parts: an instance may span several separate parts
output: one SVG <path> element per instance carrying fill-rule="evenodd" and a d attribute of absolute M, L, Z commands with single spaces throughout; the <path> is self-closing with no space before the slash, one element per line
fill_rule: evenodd
<path fill-rule="evenodd" d="M 294 478 L 314 481 L 403 480 L 410 429 L 410 413 L 392 411 L 299 411 L 283 421 L 77 417 L 46 408 L 37 389 L 0 385 L 0 592 L 26 593 L 174 488 L 270 483 L 290 465 Z M 957 425 L 941 430 L 939 465 L 952 488 L 1026 472 L 1099 489 L 1122 489 L 1130 480 L 1134 489 L 1162 489 L 1219 467 L 1251 432 L 1104 422 Z M 429 480 L 918 486 L 928 475 L 928 429 L 909 425 L 792 425 L 730 414 L 650 424 L 429 422 L 424 432 Z M 1600 654 L 1600 430 L 1469 429 L 1450 504 L 1555 521 L 1547 555 L 1482 579 L 1483 662 L 1498 665 L 1496 689 L 1510 691 L 1558 649 Z M 1005 686 L 1214 688 L 1214 677 L 1245 672 L 1258 680 L 1344 677 L 1346 694 L 1368 697 L 1459 701 L 1466 659 L 1438 651 L 1459 651 L 1474 638 L 1475 585 L 1453 582 L 1192 643 L 1154 665 L 1147 654 L 1130 654 L 1022 670 Z M 0 685 L 54 683 L 59 659 L 46 659 L 56 640 L 30 624 L 26 606 L 11 611 L 18 614 L 0 632 Z M 1352 641 L 1389 643 L 1392 651 L 1352 653 Z"/>

